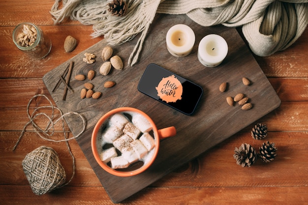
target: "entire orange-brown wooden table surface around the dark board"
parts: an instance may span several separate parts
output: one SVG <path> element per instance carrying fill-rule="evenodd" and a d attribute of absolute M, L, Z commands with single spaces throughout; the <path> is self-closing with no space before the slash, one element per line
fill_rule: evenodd
<path fill-rule="evenodd" d="M 28 126 L 19 146 L 12 151 L 29 121 L 27 104 L 31 97 L 44 94 L 52 99 L 42 77 L 103 39 L 91 38 L 92 26 L 75 21 L 53 25 L 49 14 L 53 3 L 53 0 L 0 2 L 3 42 L 0 46 L 0 201 L 5 205 L 113 204 L 75 140 L 69 141 L 76 158 L 74 178 L 67 186 L 41 196 L 31 191 L 22 170 L 22 160 L 39 146 L 51 146 L 58 152 L 70 178 L 72 159 L 65 143 L 47 142 Z M 52 50 L 45 59 L 30 59 L 14 46 L 12 32 L 22 22 L 40 26 L 51 38 Z M 71 53 L 63 50 L 67 35 L 78 39 L 78 46 Z M 121 204 L 308 204 L 307 54 L 308 29 L 287 50 L 269 57 L 255 56 L 281 99 L 277 110 L 255 122 L 268 127 L 268 137 L 263 141 L 276 143 L 277 157 L 273 162 L 257 160 L 250 168 L 236 164 L 235 147 L 248 143 L 257 148 L 263 143 L 250 137 L 253 123 Z M 48 103 L 38 100 L 34 106 L 45 105 Z M 65 131 L 72 137 L 67 126 Z M 61 126 L 56 127 L 55 138 L 63 138 Z"/>

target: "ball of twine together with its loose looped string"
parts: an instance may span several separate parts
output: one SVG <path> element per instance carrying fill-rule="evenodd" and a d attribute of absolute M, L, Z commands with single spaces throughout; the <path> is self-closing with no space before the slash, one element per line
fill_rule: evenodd
<path fill-rule="evenodd" d="M 32 112 L 32 114 L 30 114 L 29 112 L 29 108 L 30 108 L 30 104 L 32 102 L 32 100 L 38 98 L 38 97 L 44 97 L 48 100 L 48 102 L 50 103 L 50 106 L 41 106 L 41 107 L 37 107 L 34 109 L 34 111 Z M 48 116 L 47 114 L 43 113 L 43 112 L 39 112 L 40 109 L 51 109 L 51 116 Z M 61 114 L 61 116 L 59 118 L 55 118 L 55 110 L 58 110 Z M 71 178 L 64 184 L 65 182 L 65 171 L 61 165 L 60 159 L 59 159 L 59 155 L 57 154 L 57 152 L 51 148 L 51 147 L 46 147 L 46 146 L 40 146 L 36 149 L 34 149 L 33 151 L 31 151 L 30 153 L 28 153 L 25 157 L 25 159 L 22 162 L 22 166 L 23 166 L 23 170 L 24 173 L 30 183 L 31 189 L 33 191 L 34 194 L 37 195 L 42 195 L 45 194 L 47 192 L 51 192 L 54 189 L 60 188 L 62 186 L 67 185 L 74 177 L 75 175 L 75 157 L 73 155 L 73 153 L 71 152 L 70 146 L 68 145 L 68 141 L 72 140 L 72 139 L 76 139 L 77 137 L 79 137 L 86 129 L 86 120 L 84 117 L 82 117 L 80 114 L 75 113 L 75 112 L 69 112 L 69 113 L 65 113 L 62 114 L 62 111 L 57 108 L 54 107 L 52 102 L 48 99 L 48 97 L 44 94 L 37 94 L 34 95 L 27 106 L 27 113 L 28 113 L 28 117 L 29 117 L 29 121 L 26 123 L 26 125 L 24 126 L 23 131 L 21 132 L 15 146 L 13 147 L 13 151 L 16 149 L 16 147 L 18 146 L 19 142 L 21 141 L 24 133 L 26 132 L 26 127 L 30 124 L 32 124 L 33 128 L 34 128 L 34 132 L 36 134 L 38 134 L 42 139 L 47 140 L 47 141 L 51 141 L 51 142 L 65 142 L 68 152 L 72 157 L 73 160 L 73 173 Z M 66 132 L 64 130 L 64 117 L 69 116 L 69 115 L 76 115 L 77 117 L 80 117 L 82 122 L 83 122 L 83 126 L 81 126 L 82 130 L 81 132 L 76 135 L 75 137 L 71 137 L 71 138 L 67 138 L 66 137 Z M 44 116 L 46 117 L 49 122 L 47 124 L 47 126 L 45 127 L 45 129 L 41 128 L 40 126 L 38 126 L 35 122 L 34 119 L 36 117 L 40 117 L 40 116 Z M 62 130 L 63 130 L 63 135 L 64 135 L 64 139 L 63 140 L 53 140 L 53 139 L 49 139 L 48 137 L 53 136 L 53 134 L 55 133 L 55 124 L 57 123 L 62 123 Z"/>

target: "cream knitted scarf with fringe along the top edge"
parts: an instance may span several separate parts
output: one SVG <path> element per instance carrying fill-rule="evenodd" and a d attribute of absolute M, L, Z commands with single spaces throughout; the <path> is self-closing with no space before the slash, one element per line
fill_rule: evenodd
<path fill-rule="evenodd" d="M 62 0 L 62 6 L 60 1 L 51 8 L 55 24 L 69 17 L 93 25 L 92 36 L 104 35 L 111 45 L 120 45 L 141 32 L 128 59 L 131 66 L 139 58 L 155 13 L 186 14 L 205 27 L 243 26 L 249 47 L 258 56 L 288 48 L 308 24 L 308 0 L 126 0 L 128 9 L 120 18 L 107 11 L 110 0 Z"/>

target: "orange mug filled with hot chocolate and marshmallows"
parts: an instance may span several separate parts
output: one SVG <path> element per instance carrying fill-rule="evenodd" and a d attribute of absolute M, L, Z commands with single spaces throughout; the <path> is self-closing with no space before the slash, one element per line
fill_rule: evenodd
<path fill-rule="evenodd" d="M 129 123 L 125 122 L 127 125 L 126 124 L 124 125 L 124 123 L 122 125 L 122 124 L 120 124 L 121 120 L 119 119 L 119 120 L 116 120 L 116 123 L 118 123 L 118 125 L 111 125 L 112 124 L 111 121 L 114 120 L 112 118 L 115 118 L 114 116 L 119 117 L 118 114 L 121 114 L 120 117 L 124 116 Z M 132 159 L 132 157 L 130 157 L 127 160 L 124 159 L 125 158 L 124 154 L 121 151 L 121 149 L 123 148 L 123 145 L 119 146 L 118 142 L 121 142 L 121 140 L 124 138 L 124 135 L 125 135 L 125 137 L 127 137 L 127 135 L 133 135 L 133 134 L 130 134 L 130 133 L 133 133 L 133 131 L 137 127 L 137 126 L 135 126 L 133 121 L 135 121 L 136 124 L 137 123 L 139 124 L 138 121 L 134 120 L 135 118 L 140 119 L 140 121 L 139 121 L 140 124 L 146 124 L 147 126 L 143 126 L 143 128 L 145 128 L 145 130 L 139 130 L 137 128 L 137 130 L 140 131 L 139 134 L 135 135 L 135 136 L 138 135 L 137 137 L 132 136 L 132 139 L 129 138 L 129 141 L 127 141 L 127 140 L 122 141 L 123 145 L 125 144 L 125 150 L 127 150 L 127 149 L 132 150 L 131 152 L 129 152 L 130 153 L 129 156 L 133 155 L 134 157 L 137 156 L 137 158 L 138 158 L 135 161 L 131 160 L 131 162 L 128 162 L 128 164 L 126 165 L 125 164 L 126 161 L 130 161 L 130 159 Z M 127 127 L 129 127 L 128 124 L 130 124 L 130 126 L 133 126 L 133 128 L 131 128 L 131 127 L 127 128 Z M 124 126 L 124 128 L 123 128 L 123 126 Z M 117 134 L 115 134 L 113 129 L 116 130 Z M 108 131 L 106 131 L 106 130 L 108 130 Z M 109 130 L 111 130 L 111 131 L 109 131 Z M 133 131 L 131 131 L 131 130 L 133 130 Z M 108 132 L 108 134 L 107 134 L 107 132 Z M 121 133 L 121 134 L 119 134 L 119 133 Z M 147 135 L 148 137 L 151 135 L 152 140 L 151 139 L 149 139 L 149 140 L 152 142 L 152 145 L 151 145 L 152 148 L 149 146 L 149 144 L 151 144 L 151 143 L 148 143 L 150 141 L 144 140 L 146 138 L 143 137 L 143 135 Z M 159 150 L 160 140 L 167 138 L 167 137 L 172 137 L 172 136 L 175 136 L 175 135 L 176 135 L 176 129 L 175 129 L 174 126 L 166 127 L 166 128 L 163 128 L 163 129 L 157 129 L 157 127 L 156 127 L 154 121 L 152 120 L 152 118 L 149 117 L 144 112 L 138 110 L 138 109 L 131 108 L 131 107 L 116 108 L 116 109 L 111 110 L 108 113 L 106 113 L 95 124 L 93 132 L 92 132 L 92 139 L 91 139 L 92 153 L 93 153 L 94 158 L 95 158 L 96 162 L 98 163 L 98 165 L 101 168 L 103 168 L 106 172 L 108 172 L 112 175 L 115 175 L 115 176 L 134 176 L 134 175 L 138 175 L 138 174 L 144 172 L 145 170 L 147 170 L 153 164 L 153 162 L 154 162 L 154 160 L 157 156 L 158 150 Z M 142 137 L 143 137 L 143 139 L 141 139 Z M 127 142 L 128 142 L 128 144 L 127 144 Z M 140 143 L 141 144 L 143 143 L 143 145 L 139 145 Z M 146 145 L 148 145 L 148 146 L 146 146 Z M 141 146 L 141 148 L 139 148 L 139 146 Z M 144 147 L 149 149 L 148 152 L 140 151 L 140 150 L 144 149 Z M 114 153 L 115 150 L 116 150 L 117 155 Z M 125 155 L 125 156 L 127 156 L 127 155 Z M 111 159 L 111 158 L 113 158 L 113 159 Z M 125 167 L 124 168 L 122 168 L 122 167 L 121 168 L 115 168 L 115 167 L 113 167 L 114 166 L 112 164 L 113 162 L 114 162 L 114 164 L 116 164 L 118 162 L 119 162 L 119 164 L 122 164 L 123 162 L 125 162 L 125 163 L 123 163 L 125 165 Z"/>

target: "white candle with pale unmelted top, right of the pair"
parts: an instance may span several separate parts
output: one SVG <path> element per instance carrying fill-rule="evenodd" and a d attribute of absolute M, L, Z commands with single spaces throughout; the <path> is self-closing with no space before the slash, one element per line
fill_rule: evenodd
<path fill-rule="evenodd" d="M 216 67 L 227 56 L 228 44 L 223 37 L 210 34 L 202 38 L 198 47 L 198 59 L 207 67 Z"/>

